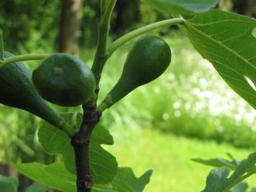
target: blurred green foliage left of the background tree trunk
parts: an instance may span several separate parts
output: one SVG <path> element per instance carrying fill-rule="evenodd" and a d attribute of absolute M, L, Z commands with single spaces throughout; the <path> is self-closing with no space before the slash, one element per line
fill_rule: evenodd
<path fill-rule="evenodd" d="M 54 50 L 60 16 L 57 7 L 61 7 L 57 0 L 1 1 L 0 28 L 6 37 L 6 50 L 15 53 L 35 51 L 35 47 L 40 51 Z"/>

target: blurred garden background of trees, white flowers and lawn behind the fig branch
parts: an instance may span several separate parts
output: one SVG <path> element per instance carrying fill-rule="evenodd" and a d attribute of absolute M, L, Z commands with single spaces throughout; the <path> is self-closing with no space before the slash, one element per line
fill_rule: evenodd
<path fill-rule="evenodd" d="M 13 54 L 67 52 L 92 64 L 95 54 L 98 0 L 2 0 L 0 28 L 5 50 Z M 219 9 L 256 17 L 255 0 L 221 0 Z M 145 24 L 169 18 L 139 0 L 118 0 L 109 42 Z M 113 134 L 108 146 L 120 166 L 134 168 L 137 176 L 152 168 L 147 192 L 202 190 L 210 167 L 194 157 L 243 159 L 256 148 L 256 112 L 229 88 L 176 27 L 159 35 L 173 50 L 171 66 L 159 79 L 139 87 L 106 112 L 102 124 Z M 128 42 L 106 63 L 100 100 L 117 82 Z M 33 70 L 37 62 L 26 62 Z M 80 108 L 61 108 L 59 113 Z M 40 120 L 29 113 L 0 105 L 0 175 L 17 175 L 13 164 L 39 161 L 50 164 L 36 138 Z M 19 175 L 20 189 L 31 181 Z M 249 183 L 254 178 L 249 179 Z M 184 189 L 184 186 L 189 186 Z M 255 184 L 254 184 L 255 186 Z"/>

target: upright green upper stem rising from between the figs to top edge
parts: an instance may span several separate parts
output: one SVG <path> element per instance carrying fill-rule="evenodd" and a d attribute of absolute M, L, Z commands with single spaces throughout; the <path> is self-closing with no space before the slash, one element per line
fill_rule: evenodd
<path fill-rule="evenodd" d="M 91 68 L 92 72 L 95 74 L 97 88 L 101 78 L 102 69 L 104 67 L 104 64 L 106 63 L 106 60 L 109 57 L 107 53 L 107 39 L 109 36 L 110 19 L 116 2 L 117 0 L 108 1 L 106 9 L 104 10 L 104 13 L 102 15 L 102 19 L 98 24 L 98 44 L 95 53 L 95 60 Z"/>

